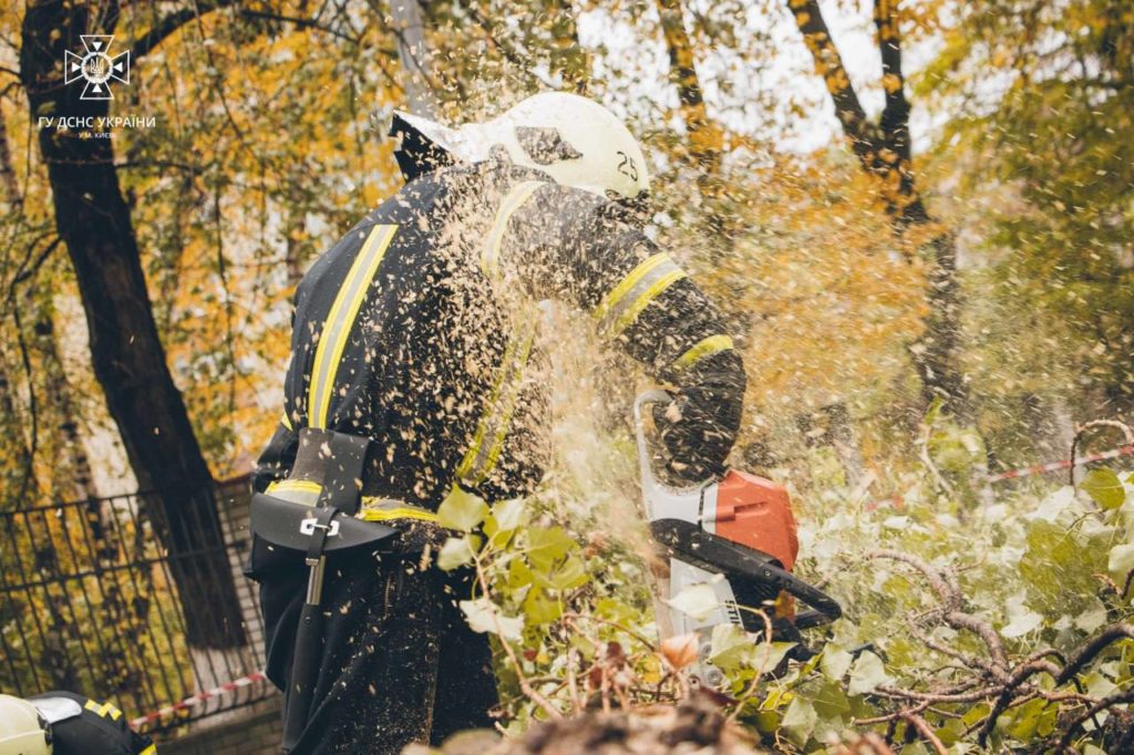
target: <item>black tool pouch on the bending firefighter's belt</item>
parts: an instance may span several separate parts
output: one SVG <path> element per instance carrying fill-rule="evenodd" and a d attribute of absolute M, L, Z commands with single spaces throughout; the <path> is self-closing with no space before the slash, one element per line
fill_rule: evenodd
<path fill-rule="evenodd" d="M 392 527 L 354 516 L 361 500 L 357 480 L 369 441 L 345 433 L 312 432 L 325 434 L 330 446 L 319 501 L 312 507 L 268 493 L 252 497 L 252 553 L 245 568 L 252 579 L 259 580 L 274 568 L 302 565 L 313 546 L 327 555 L 362 549 L 378 551 L 398 534 Z"/>

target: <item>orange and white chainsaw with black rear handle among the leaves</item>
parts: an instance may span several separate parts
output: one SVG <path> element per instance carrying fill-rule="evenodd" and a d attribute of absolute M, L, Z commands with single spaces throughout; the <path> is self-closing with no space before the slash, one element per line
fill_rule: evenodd
<path fill-rule="evenodd" d="M 696 633 L 704 658 L 706 630 L 717 625 L 727 622 L 764 634 L 763 617 L 744 608 L 765 609 L 772 638 L 786 642 L 797 642 L 802 629 L 839 618 L 843 609 L 835 599 L 792 574 L 799 543 L 784 486 L 736 469 L 683 489 L 665 485 L 654 476 L 642 412 L 646 405 L 670 398 L 654 390 L 634 402 L 645 514 L 654 541 L 669 558 L 670 599 L 691 586 L 708 584 L 717 608 L 697 617 L 675 608 L 661 610 L 662 634 Z M 796 610 L 796 603 L 803 610 Z"/>

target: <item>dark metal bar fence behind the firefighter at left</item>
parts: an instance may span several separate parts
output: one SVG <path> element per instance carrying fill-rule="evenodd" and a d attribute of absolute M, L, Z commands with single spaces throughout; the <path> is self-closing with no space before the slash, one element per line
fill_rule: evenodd
<path fill-rule="evenodd" d="M 213 647 L 186 642 L 187 613 L 218 606 L 183 605 L 160 507 L 146 494 L 0 511 L 0 692 L 28 696 L 68 689 L 115 701 L 141 716 L 219 687 L 263 667 L 263 628 L 255 591 L 240 574 L 247 549 L 245 480 L 211 493 L 218 517 L 193 521 L 212 543 L 181 553 L 208 565 L 200 578 L 236 585 L 242 626 Z M 183 525 L 184 526 L 184 525 Z M 220 528 L 218 536 L 217 528 Z M 228 575 L 219 570 L 228 569 Z M 220 582 L 215 583 L 220 584 Z M 201 622 L 197 621 L 197 625 Z M 209 643 L 204 643 L 209 645 Z M 169 729 L 257 702 L 263 681 L 180 707 L 147 722 Z"/>

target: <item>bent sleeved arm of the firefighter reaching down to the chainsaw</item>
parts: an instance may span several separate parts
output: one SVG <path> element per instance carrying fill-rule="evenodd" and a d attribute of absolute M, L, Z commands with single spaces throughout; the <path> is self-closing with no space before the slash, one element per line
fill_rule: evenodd
<path fill-rule="evenodd" d="M 674 258 L 620 222 L 600 197 L 545 185 L 508 229 L 507 268 L 536 297 L 592 314 L 603 339 L 675 395 L 654 418 L 670 469 L 703 480 L 723 468 L 741 426 L 746 378 L 723 317 Z"/>

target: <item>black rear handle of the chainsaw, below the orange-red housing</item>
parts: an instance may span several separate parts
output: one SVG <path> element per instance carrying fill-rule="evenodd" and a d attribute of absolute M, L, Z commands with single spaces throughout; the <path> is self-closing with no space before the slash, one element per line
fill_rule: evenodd
<path fill-rule="evenodd" d="M 680 519 L 651 521 L 650 531 L 654 540 L 682 561 L 706 571 L 722 572 L 723 569 L 725 577 L 734 583 L 734 589 L 752 584 L 769 597 L 784 592 L 798 600 L 809 610 L 795 616 L 793 623 L 796 629 L 818 627 L 843 616 L 843 606 L 838 601 L 799 579 L 767 553 L 745 548 Z"/>

